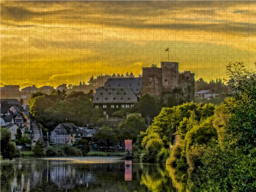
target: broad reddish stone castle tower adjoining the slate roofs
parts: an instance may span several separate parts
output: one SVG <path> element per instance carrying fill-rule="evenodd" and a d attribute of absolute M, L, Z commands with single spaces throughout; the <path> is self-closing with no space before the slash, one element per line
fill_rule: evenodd
<path fill-rule="evenodd" d="M 160 96 L 162 92 L 162 68 L 144 67 L 142 68 L 142 88 L 141 94 Z"/>

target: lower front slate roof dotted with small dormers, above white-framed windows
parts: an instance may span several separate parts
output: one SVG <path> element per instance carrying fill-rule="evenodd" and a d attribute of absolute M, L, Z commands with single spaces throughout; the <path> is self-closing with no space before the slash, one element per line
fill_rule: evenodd
<path fill-rule="evenodd" d="M 94 93 L 93 103 L 137 103 L 138 98 L 128 87 L 99 87 Z"/>

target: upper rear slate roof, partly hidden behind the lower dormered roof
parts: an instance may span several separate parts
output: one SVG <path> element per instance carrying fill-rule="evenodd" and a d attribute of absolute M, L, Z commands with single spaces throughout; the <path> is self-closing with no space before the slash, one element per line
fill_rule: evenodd
<path fill-rule="evenodd" d="M 130 87 L 135 95 L 139 94 L 142 87 L 142 77 L 132 78 L 109 78 L 104 86 L 110 87 Z"/>

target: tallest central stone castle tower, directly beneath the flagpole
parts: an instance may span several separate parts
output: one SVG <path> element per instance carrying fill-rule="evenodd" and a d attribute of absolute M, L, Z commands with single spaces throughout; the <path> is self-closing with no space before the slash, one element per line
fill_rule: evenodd
<path fill-rule="evenodd" d="M 178 87 L 179 81 L 179 63 L 177 62 L 161 62 L 163 91 L 172 92 Z"/>

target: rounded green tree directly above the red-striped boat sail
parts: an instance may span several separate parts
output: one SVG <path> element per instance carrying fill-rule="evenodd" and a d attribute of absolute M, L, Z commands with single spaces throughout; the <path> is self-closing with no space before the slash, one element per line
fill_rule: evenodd
<path fill-rule="evenodd" d="M 120 136 L 123 140 L 131 139 L 136 142 L 137 136 L 141 131 L 146 131 L 145 120 L 139 115 L 130 115 L 118 125 Z"/>

